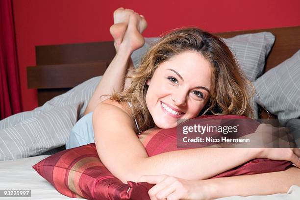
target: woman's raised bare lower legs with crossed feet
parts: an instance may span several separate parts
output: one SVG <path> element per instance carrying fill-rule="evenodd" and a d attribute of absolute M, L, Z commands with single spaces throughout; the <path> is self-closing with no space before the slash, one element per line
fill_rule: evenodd
<path fill-rule="evenodd" d="M 110 32 L 115 40 L 116 55 L 102 76 L 84 114 L 94 111 L 98 103 L 108 98 L 114 91 L 120 92 L 130 84 L 125 75 L 133 70 L 131 53 L 141 48 L 145 40 L 141 32 L 147 27 L 143 16 L 129 9 L 119 8 L 114 12 L 114 22 Z M 127 23 L 127 24 L 126 24 Z"/>

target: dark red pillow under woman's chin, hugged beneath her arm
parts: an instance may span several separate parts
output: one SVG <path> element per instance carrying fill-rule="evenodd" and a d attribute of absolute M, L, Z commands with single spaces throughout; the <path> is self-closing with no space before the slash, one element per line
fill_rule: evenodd
<path fill-rule="evenodd" d="M 236 137 L 240 137 L 243 135 L 247 135 L 249 133 L 255 132 L 258 125 L 260 125 L 255 120 L 252 120 L 248 117 L 244 116 L 236 116 L 236 115 L 224 115 L 224 116 L 212 116 L 205 115 L 195 119 L 201 119 L 201 123 L 204 125 L 224 125 L 229 124 L 230 120 L 234 122 L 234 124 L 238 123 L 240 126 L 240 135 Z M 193 124 L 193 122 L 191 123 Z M 173 150 L 183 150 L 183 149 L 192 149 L 192 148 L 178 148 L 177 147 L 177 132 L 176 128 L 170 129 L 160 129 L 160 128 L 151 128 L 143 132 L 143 134 L 139 135 L 139 139 L 143 143 L 147 153 L 149 156 L 153 156 L 159 153 L 173 151 Z M 217 137 L 217 135 L 212 135 Z M 211 144 L 201 143 L 197 144 L 198 147 L 201 145 L 202 147 L 207 147 Z M 255 158 L 253 160 L 248 161 L 238 167 L 230 169 L 226 172 L 223 172 L 219 175 L 216 175 L 212 178 L 217 177 L 227 177 L 227 176 L 235 176 L 235 175 L 253 175 L 253 174 L 261 174 L 268 172 L 277 172 L 288 169 L 292 166 L 292 163 L 289 161 L 278 161 L 278 160 L 270 160 L 264 158 Z"/>

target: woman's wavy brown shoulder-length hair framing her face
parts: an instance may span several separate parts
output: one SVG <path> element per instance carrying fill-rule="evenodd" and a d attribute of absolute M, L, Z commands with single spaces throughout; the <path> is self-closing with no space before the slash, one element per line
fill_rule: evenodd
<path fill-rule="evenodd" d="M 131 102 L 140 132 L 156 127 L 146 104 L 147 80 L 161 63 L 189 50 L 201 53 L 209 61 L 212 72 L 210 99 L 199 115 L 253 116 L 249 102 L 254 94 L 253 86 L 224 41 L 196 27 L 177 28 L 162 35 L 142 57 L 133 75 L 126 76 L 131 78 L 131 85 L 110 97 L 118 102 Z"/>

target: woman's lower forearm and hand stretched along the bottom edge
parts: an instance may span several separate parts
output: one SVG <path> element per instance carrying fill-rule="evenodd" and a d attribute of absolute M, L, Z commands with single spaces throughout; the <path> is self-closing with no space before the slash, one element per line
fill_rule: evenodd
<path fill-rule="evenodd" d="M 206 200 L 230 196 L 271 195 L 286 193 L 292 185 L 300 186 L 300 169 L 281 172 L 239 175 L 208 180 L 185 180 L 168 175 L 145 175 L 140 182 L 155 184 L 151 200 Z"/>

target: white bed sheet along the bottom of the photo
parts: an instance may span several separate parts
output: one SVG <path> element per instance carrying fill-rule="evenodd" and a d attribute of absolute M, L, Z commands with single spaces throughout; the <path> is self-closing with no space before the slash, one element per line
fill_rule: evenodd
<path fill-rule="evenodd" d="M 0 161 L 0 189 L 30 189 L 31 198 L 0 198 L 0 200 L 82 200 L 69 198 L 57 192 L 54 187 L 40 176 L 32 165 L 49 155 L 39 155 L 17 160 Z M 278 187 L 280 187 L 278 185 Z M 219 200 L 300 200 L 300 187 L 293 185 L 287 194 L 267 196 L 227 197 Z"/>

